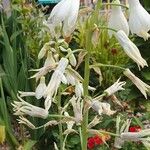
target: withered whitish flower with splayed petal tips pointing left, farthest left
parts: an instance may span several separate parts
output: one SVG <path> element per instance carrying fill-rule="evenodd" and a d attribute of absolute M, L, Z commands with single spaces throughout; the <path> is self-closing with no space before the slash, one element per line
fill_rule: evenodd
<path fill-rule="evenodd" d="M 31 105 L 28 102 L 25 102 L 21 97 L 18 96 L 18 101 L 14 101 L 13 105 L 13 111 L 15 112 L 14 115 L 29 115 L 32 117 L 39 117 L 46 119 L 48 117 L 48 111 L 41 108 L 37 107 L 34 105 Z"/>

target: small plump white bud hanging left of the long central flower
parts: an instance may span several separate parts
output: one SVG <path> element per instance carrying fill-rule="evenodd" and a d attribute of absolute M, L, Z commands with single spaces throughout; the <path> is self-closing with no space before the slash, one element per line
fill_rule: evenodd
<path fill-rule="evenodd" d="M 37 99 L 42 98 L 44 96 L 43 94 L 45 92 L 45 89 L 46 89 L 45 77 L 43 76 L 43 77 L 41 77 L 40 83 L 35 90 L 35 97 Z"/>

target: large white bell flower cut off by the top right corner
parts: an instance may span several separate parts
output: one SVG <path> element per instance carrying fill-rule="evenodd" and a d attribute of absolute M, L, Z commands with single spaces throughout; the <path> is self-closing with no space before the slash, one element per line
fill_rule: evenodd
<path fill-rule="evenodd" d="M 143 8 L 139 0 L 129 0 L 129 26 L 133 34 L 147 40 L 150 37 L 150 14 Z"/>

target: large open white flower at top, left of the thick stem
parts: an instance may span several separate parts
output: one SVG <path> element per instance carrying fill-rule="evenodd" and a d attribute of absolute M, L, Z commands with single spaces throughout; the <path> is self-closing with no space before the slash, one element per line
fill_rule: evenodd
<path fill-rule="evenodd" d="M 48 18 L 48 24 L 55 28 L 63 23 L 63 35 L 65 37 L 75 29 L 80 0 L 62 0 L 52 10 Z"/>

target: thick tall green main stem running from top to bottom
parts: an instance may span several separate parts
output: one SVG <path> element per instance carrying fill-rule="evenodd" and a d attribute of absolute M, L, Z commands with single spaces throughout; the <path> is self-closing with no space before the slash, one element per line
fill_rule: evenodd
<path fill-rule="evenodd" d="M 88 96 L 88 85 L 89 85 L 89 76 L 90 76 L 90 52 L 92 49 L 92 33 L 93 33 L 93 25 L 94 23 L 98 23 L 98 16 L 99 16 L 99 9 L 101 7 L 102 0 L 99 0 L 96 5 L 96 9 L 93 12 L 92 16 L 89 18 L 86 24 L 86 34 L 85 34 L 85 50 L 87 51 L 87 54 L 85 56 L 85 68 L 84 68 L 84 82 L 83 82 L 83 88 L 84 88 L 84 97 Z M 86 102 L 84 102 L 85 104 Z M 81 145 L 82 150 L 87 150 L 87 138 L 88 138 L 88 110 L 84 112 L 83 114 L 83 121 L 81 125 Z"/>

